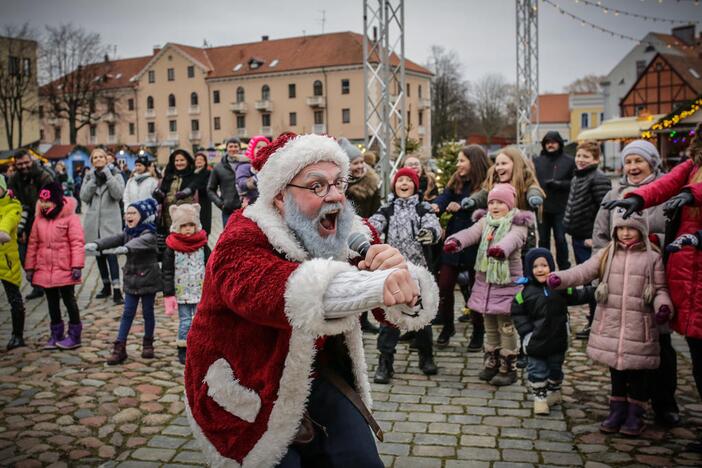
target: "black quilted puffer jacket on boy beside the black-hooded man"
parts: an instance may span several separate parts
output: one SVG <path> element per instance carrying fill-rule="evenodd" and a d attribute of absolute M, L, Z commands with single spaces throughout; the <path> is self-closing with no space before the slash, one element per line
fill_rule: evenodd
<path fill-rule="evenodd" d="M 612 182 L 596 164 L 576 169 L 563 218 L 566 232 L 575 239 L 592 238 L 600 203 L 611 189 Z"/>

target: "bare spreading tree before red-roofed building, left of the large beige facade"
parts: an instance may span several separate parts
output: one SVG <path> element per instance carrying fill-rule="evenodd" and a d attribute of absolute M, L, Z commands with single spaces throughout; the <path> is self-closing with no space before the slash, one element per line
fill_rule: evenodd
<path fill-rule="evenodd" d="M 103 92 L 111 69 L 110 48 L 102 44 L 100 34 L 70 23 L 46 30 L 42 70 L 47 84 L 42 95 L 49 103 L 49 116 L 68 122 L 69 141 L 75 144 L 81 128 L 113 112 L 97 105 L 110 99 Z"/>

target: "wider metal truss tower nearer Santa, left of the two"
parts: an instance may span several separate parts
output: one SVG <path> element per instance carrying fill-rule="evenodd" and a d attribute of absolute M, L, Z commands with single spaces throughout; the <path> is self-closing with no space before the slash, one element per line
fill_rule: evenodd
<path fill-rule="evenodd" d="M 363 81 L 365 146 L 378 154 L 385 196 L 405 155 L 404 0 L 363 0 Z"/>

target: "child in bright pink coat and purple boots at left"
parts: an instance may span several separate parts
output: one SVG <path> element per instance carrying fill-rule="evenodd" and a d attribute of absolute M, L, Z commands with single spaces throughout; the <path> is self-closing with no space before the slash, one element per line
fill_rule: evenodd
<path fill-rule="evenodd" d="M 27 280 L 44 288 L 51 318 L 51 337 L 44 349 L 80 346 L 83 326 L 74 293 L 81 283 L 85 264 L 83 227 L 76 215 L 76 200 L 64 197 L 61 184 L 52 182 L 39 192 L 36 219 L 27 245 Z M 60 300 L 68 311 L 68 335 L 64 336 Z"/>

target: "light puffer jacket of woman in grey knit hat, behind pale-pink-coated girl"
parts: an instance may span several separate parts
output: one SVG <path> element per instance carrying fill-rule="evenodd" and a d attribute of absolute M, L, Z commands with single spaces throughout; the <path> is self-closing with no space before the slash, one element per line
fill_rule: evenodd
<path fill-rule="evenodd" d="M 640 184 L 632 184 L 627 176 L 623 175 L 619 179 L 619 185 L 602 198 L 600 203 L 605 203 L 610 200 L 618 200 L 622 198 L 624 192 L 630 192 L 638 187 L 650 184 L 662 177 L 661 173 L 656 171 L 654 174 L 646 178 Z M 648 232 L 655 234 L 658 237 L 658 247 L 663 247 L 665 239 L 665 223 L 666 218 L 663 215 L 663 205 L 652 206 L 644 210 L 648 219 Z M 612 240 L 612 212 L 602 206 L 597 211 L 595 217 L 595 225 L 592 229 L 592 251 L 597 252 Z"/>

